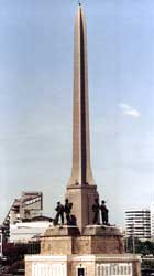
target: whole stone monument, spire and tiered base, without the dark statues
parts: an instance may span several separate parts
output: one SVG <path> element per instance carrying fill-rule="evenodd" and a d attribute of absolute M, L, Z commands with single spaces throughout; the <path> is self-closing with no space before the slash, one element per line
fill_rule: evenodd
<path fill-rule="evenodd" d="M 25 275 L 140 276 L 140 257 L 124 254 L 121 231 L 100 225 L 99 211 L 94 209 L 99 206 L 99 194 L 90 166 L 87 36 L 80 4 L 75 19 L 74 61 L 73 168 L 65 199 L 73 203 L 76 225 L 50 227 L 42 237 L 41 254 L 25 256 Z"/>

